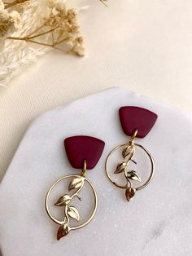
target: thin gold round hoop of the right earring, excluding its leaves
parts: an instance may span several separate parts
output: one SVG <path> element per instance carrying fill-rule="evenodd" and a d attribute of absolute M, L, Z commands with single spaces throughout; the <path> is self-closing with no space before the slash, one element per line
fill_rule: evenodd
<path fill-rule="evenodd" d="M 137 132 L 136 132 L 136 135 L 137 135 Z M 133 137 L 133 139 L 134 139 L 134 137 Z M 111 150 L 111 152 L 107 156 L 107 160 L 106 160 L 106 163 L 105 163 L 105 170 L 106 170 L 108 179 L 111 181 L 111 183 L 113 183 L 118 188 L 127 189 L 128 188 L 128 183 L 126 183 L 126 185 L 120 185 L 120 184 L 116 183 L 115 181 L 113 181 L 111 179 L 111 176 L 110 176 L 109 171 L 108 171 L 108 162 L 109 162 L 109 159 L 110 159 L 111 155 L 114 152 L 116 152 L 116 150 L 118 150 L 119 148 L 123 148 L 123 147 L 129 147 L 130 145 L 131 145 L 131 143 L 124 143 L 124 144 L 121 144 L 121 145 L 117 146 L 113 150 Z M 142 148 L 142 150 L 144 152 L 146 152 L 146 155 L 150 158 L 150 161 L 151 161 L 151 174 L 150 174 L 149 178 L 146 180 L 146 182 L 144 184 L 135 188 L 135 190 L 138 191 L 138 190 L 141 190 L 142 188 L 145 188 L 151 182 L 151 179 L 153 178 L 153 175 L 154 175 L 155 164 L 154 164 L 153 157 L 151 156 L 151 153 L 146 148 L 144 148 L 142 145 L 140 145 L 138 143 L 133 143 L 133 145 L 136 146 L 136 147 Z M 129 159 L 129 161 L 131 161 L 131 158 Z M 128 161 L 128 164 L 129 164 L 129 161 Z"/>

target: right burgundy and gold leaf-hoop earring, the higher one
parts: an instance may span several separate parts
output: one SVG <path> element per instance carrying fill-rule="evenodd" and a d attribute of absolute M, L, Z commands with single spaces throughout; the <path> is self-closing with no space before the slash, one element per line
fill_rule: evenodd
<path fill-rule="evenodd" d="M 151 156 L 151 153 L 144 148 L 142 145 L 138 143 L 134 143 L 135 138 L 144 138 L 149 133 L 151 128 L 155 125 L 155 121 L 157 119 L 157 115 L 155 113 L 152 113 L 150 110 L 147 110 L 145 108 L 139 108 L 139 107 L 121 107 L 119 110 L 120 115 L 120 123 L 124 130 L 124 133 L 126 135 L 130 136 L 129 143 L 124 143 L 122 145 L 117 146 L 114 148 L 108 155 L 106 164 L 105 164 L 105 170 L 107 173 L 108 179 L 110 179 L 111 183 L 116 185 L 118 188 L 125 189 L 125 196 L 127 201 L 129 201 L 135 194 L 136 191 L 141 190 L 142 188 L 145 188 L 153 178 L 155 165 L 153 157 Z M 141 182 L 141 178 L 139 174 L 135 170 L 129 170 L 129 165 L 131 162 L 134 164 L 137 164 L 136 161 L 133 160 L 133 156 L 135 154 L 136 148 L 141 148 L 142 151 L 146 154 L 146 157 L 149 157 L 149 160 L 151 162 L 151 174 L 149 175 L 148 179 L 142 185 L 133 188 L 133 183 Z M 109 161 L 111 159 L 111 156 L 114 152 L 118 151 L 119 149 L 122 149 L 122 157 L 124 161 L 120 162 L 116 166 L 116 170 L 114 174 L 120 174 L 123 173 L 126 183 L 125 184 L 119 184 L 114 181 L 114 179 L 111 178 L 111 174 L 109 174 Z M 136 181 L 136 182 L 134 182 Z"/>

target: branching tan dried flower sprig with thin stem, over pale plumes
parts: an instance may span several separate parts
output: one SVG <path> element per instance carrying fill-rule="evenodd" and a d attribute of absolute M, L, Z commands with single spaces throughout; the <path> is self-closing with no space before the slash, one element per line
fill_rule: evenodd
<path fill-rule="evenodd" d="M 83 38 L 79 35 L 78 15 L 74 8 L 67 8 L 65 2 L 48 0 L 48 11 L 41 19 L 41 24 L 32 33 L 24 37 L 7 37 L 12 40 L 24 40 L 79 56 L 85 54 Z M 11 16 L 15 26 L 20 24 L 16 13 Z"/>

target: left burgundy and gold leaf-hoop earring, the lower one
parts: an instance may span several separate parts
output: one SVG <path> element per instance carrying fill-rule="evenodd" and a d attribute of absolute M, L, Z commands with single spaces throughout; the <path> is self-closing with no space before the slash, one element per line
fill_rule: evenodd
<path fill-rule="evenodd" d="M 85 174 L 86 170 L 91 170 L 97 165 L 98 160 L 102 155 L 104 145 L 105 143 L 102 140 L 90 136 L 73 136 L 64 140 L 64 146 L 70 164 L 73 168 L 82 170 L 81 174 L 67 175 L 63 176 L 61 179 L 58 179 L 55 183 L 53 183 L 46 194 L 46 212 L 55 223 L 59 224 L 57 240 L 68 235 L 68 232 L 72 230 L 85 227 L 85 225 L 87 225 L 92 218 L 94 218 L 98 205 L 97 194 L 93 184 L 85 178 Z M 61 207 L 63 210 L 63 218 L 59 219 L 51 214 L 49 205 L 51 192 L 55 186 L 62 181 L 68 182 L 68 193 L 63 194 L 63 192 L 61 192 L 58 201 L 55 202 L 55 206 L 63 206 Z M 70 223 L 72 219 L 76 220 L 77 222 L 80 221 L 79 211 L 75 206 L 71 205 L 71 203 L 75 198 L 81 201 L 80 192 L 84 188 L 85 183 L 86 187 L 89 188 L 93 193 L 94 208 L 91 214 L 89 214 L 88 219 L 85 220 L 83 218 L 83 223 L 79 225 L 71 225 Z M 53 208 L 53 205 L 51 205 L 51 207 Z"/>

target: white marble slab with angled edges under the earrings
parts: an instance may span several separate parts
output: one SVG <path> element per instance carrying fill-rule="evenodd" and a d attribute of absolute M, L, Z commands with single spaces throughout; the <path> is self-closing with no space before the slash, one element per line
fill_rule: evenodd
<path fill-rule="evenodd" d="M 122 105 L 149 108 L 159 116 L 150 134 L 136 140 L 155 158 L 154 180 L 129 203 L 104 171 L 107 153 L 127 141 L 118 117 Z M 98 211 L 88 226 L 56 241 L 58 226 L 47 217 L 44 199 L 55 179 L 78 173 L 63 149 L 63 139 L 72 135 L 106 142 L 98 166 L 87 174 L 98 192 Z M 120 88 L 43 113 L 28 128 L 0 185 L 2 255 L 190 256 L 191 138 L 191 117 Z"/>

